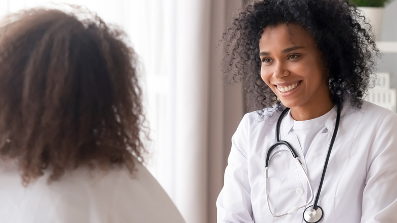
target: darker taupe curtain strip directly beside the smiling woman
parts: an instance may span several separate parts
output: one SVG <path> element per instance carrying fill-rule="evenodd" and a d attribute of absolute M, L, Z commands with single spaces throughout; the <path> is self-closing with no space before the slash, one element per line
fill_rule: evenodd
<path fill-rule="evenodd" d="M 223 174 L 232 146 L 231 138 L 243 117 L 244 104 L 241 85 L 222 87 L 220 59 L 222 50 L 217 48 L 221 32 L 242 0 L 213 1 L 211 23 L 211 68 L 210 68 L 210 110 L 208 129 L 208 221 L 216 222 L 216 199 L 223 186 Z"/>

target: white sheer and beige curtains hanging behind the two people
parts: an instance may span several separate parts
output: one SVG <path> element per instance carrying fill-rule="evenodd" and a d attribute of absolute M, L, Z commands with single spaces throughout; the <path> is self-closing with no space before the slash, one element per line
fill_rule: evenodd
<path fill-rule="evenodd" d="M 59 3 L 86 6 L 126 31 L 145 76 L 148 169 L 186 222 L 216 222 L 231 136 L 243 115 L 240 86 L 222 87 L 218 40 L 242 0 L 0 0 L 0 15 Z"/>

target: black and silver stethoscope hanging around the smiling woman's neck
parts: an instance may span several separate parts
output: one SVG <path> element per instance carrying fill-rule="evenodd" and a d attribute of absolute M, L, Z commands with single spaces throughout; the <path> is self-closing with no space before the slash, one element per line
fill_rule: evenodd
<path fill-rule="evenodd" d="M 327 154 L 327 158 L 325 159 L 325 163 L 324 163 L 324 169 L 323 169 L 323 173 L 321 175 L 321 180 L 320 180 L 320 185 L 319 185 L 319 189 L 317 190 L 317 194 L 316 194 L 316 199 L 314 201 L 314 204 L 312 206 L 309 206 L 305 209 L 305 211 L 303 212 L 303 219 L 304 221 L 306 221 L 307 223 L 317 223 L 319 222 L 322 218 L 323 218 L 323 209 L 317 205 L 318 201 L 319 201 L 319 197 L 320 197 L 320 192 L 321 192 L 321 188 L 323 186 L 323 182 L 324 182 L 324 176 L 325 176 L 325 172 L 327 170 L 327 165 L 328 165 L 328 160 L 329 160 L 329 156 L 331 155 L 331 150 L 332 150 L 332 146 L 333 143 L 335 142 L 335 137 L 336 137 L 336 133 L 338 131 L 338 127 L 339 127 L 339 119 L 341 119 L 341 106 L 338 105 L 337 106 L 337 115 L 336 115 L 336 122 L 335 122 L 335 129 L 333 130 L 333 134 L 332 134 L 332 138 L 331 138 L 331 143 L 329 144 L 329 149 L 328 149 L 328 154 Z M 267 155 L 266 155 L 266 165 L 265 165 L 265 192 L 266 192 L 266 202 L 267 202 L 267 207 L 269 208 L 269 212 L 273 217 L 281 217 L 287 214 L 293 214 L 296 211 L 298 211 L 300 208 L 303 208 L 307 205 L 309 205 L 312 201 L 313 201 L 313 189 L 311 188 L 311 183 L 309 181 L 309 178 L 307 176 L 306 171 L 303 168 L 302 162 L 300 161 L 299 157 L 296 155 L 295 150 L 292 148 L 292 146 L 287 142 L 287 141 L 281 141 L 280 140 L 280 124 L 281 124 L 281 120 L 282 118 L 287 114 L 287 112 L 290 110 L 290 108 L 286 108 L 282 111 L 280 117 L 277 120 L 277 125 L 276 125 L 276 143 L 274 143 L 269 150 L 267 151 Z M 268 198 L 268 177 L 267 177 L 267 171 L 269 169 L 269 158 L 270 158 L 270 154 L 273 151 L 274 148 L 276 148 L 277 146 L 280 145 L 285 145 L 287 146 L 287 148 L 291 151 L 292 156 L 295 158 L 295 160 L 298 162 L 299 166 L 302 168 L 303 173 L 306 176 L 306 180 L 308 182 L 309 188 L 310 188 L 310 199 L 309 202 L 307 202 L 304 205 L 298 206 L 298 207 L 293 207 L 291 210 L 289 210 L 287 213 L 283 213 L 283 214 L 274 214 L 271 210 L 270 210 L 270 205 L 269 205 L 269 198 Z"/>

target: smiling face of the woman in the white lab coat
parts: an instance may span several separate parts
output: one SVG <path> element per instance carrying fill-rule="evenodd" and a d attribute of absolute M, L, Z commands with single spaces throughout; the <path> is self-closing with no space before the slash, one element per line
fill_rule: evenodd
<path fill-rule="evenodd" d="M 297 111 L 312 113 L 326 107 L 326 113 L 332 108 L 322 57 L 306 30 L 296 24 L 267 26 L 259 49 L 261 77 L 282 104 L 291 108 L 294 119 L 300 119 Z"/>

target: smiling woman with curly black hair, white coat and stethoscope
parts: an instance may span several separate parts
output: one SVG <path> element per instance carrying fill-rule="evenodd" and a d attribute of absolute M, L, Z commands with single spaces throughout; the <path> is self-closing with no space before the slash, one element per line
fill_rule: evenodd
<path fill-rule="evenodd" d="M 378 52 L 363 19 L 347 0 L 234 19 L 224 74 L 260 110 L 233 135 L 218 222 L 397 222 L 397 115 L 363 100 Z"/>

